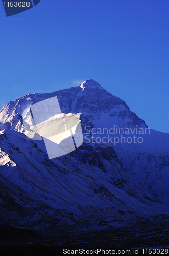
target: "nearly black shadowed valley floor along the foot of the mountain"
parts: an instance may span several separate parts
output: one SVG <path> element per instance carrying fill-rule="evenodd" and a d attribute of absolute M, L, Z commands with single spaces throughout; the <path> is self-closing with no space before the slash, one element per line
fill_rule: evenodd
<path fill-rule="evenodd" d="M 57 235 L 38 234 L 36 236 L 34 232 L 27 232 L 26 236 L 24 236 L 21 231 L 20 238 L 17 234 L 17 239 L 12 238 L 10 232 L 8 230 L 9 239 L 1 239 L 0 241 L 1 256 L 66 255 L 66 253 L 63 253 L 63 249 L 74 250 L 75 254 L 75 250 L 80 248 L 83 250 L 97 250 L 98 248 L 115 250 L 115 254 L 117 254 L 118 250 L 131 250 L 130 254 L 132 254 L 133 249 L 139 248 L 139 255 L 143 254 L 143 248 L 160 248 L 160 250 L 168 248 L 169 251 L 169 221 L 102 231 L 69 234 L 61 231 Z M 146 251 L 144 254 L 146 254 Z M 163 254 L 168 253 L 163 252 Z M 98 253 L 98 255 L 101 254 Z"/>

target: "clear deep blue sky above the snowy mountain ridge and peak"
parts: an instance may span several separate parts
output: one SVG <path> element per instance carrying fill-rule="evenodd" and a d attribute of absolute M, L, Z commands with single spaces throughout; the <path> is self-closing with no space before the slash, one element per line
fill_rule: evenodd
<path fill-rule="evenodd" d="M 0 16 L 0 107 L 93 79 L 169 132 L 168 0 L 41 0 L 11 17 L 0 3 Z"/>

